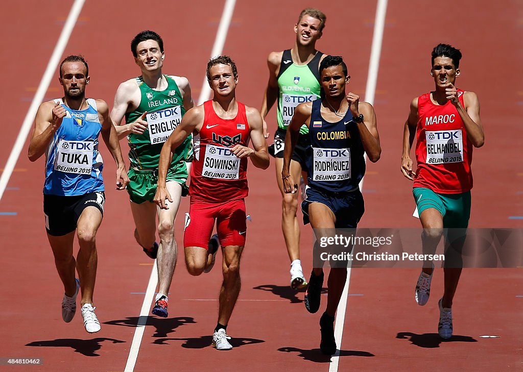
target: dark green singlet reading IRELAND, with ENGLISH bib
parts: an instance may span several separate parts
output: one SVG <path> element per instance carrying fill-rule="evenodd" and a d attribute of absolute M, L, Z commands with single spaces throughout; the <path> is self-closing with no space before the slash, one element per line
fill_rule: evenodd
<path fill-rule="evenodd" d="M 145 84 L 141 76 L 137 77 L 136 82 L 141 92 L 140 104 L 134 111 L 126 113 L 126 122 L 132 123 L 147 111 L 147 130 L 142 134 L 130 133 L 127 136 L 131 148 L 131 167 L 138 170 L 158 168 L 162 146 L 185 114 L 183 97 L 178 85 L 172 76 L 164 76 L 167 79 L 167 89 L 162 91 L 152 89 Z M 191 155 L 191 136 L 188 136 L 176 148 L 171 166 L 189 159 Z"/>

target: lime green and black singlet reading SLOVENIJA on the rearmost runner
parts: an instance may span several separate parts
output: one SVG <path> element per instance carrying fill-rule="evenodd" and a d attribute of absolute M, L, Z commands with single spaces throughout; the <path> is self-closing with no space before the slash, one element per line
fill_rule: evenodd
<path fill-rule="evenodd" d="M 287 130 L 294 109 L 298 104 L 314 101 L 320 98 L 320 74 L 318 68 L 322 52 L 316 52 L 311 62 L 306 65 L 296 65 L 292 61 L 290 49 L 284 50 L 281 57 L 278 73 L 278 127 Z M 308 127 L 303 124 L 300 134 L 309 133 Z"/>

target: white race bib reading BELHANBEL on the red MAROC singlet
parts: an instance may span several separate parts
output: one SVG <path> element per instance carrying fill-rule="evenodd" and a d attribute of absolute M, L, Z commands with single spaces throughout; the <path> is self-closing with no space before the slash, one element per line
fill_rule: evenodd
<path fill-rule="evenodd" d="M 427 164 L 449 164 L 463 161 L 463 132 L 426 131 Z"/>

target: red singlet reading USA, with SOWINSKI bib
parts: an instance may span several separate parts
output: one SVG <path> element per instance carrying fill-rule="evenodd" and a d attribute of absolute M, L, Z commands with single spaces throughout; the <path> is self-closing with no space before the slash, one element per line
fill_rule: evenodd
<path fill-rule="evenodd" d="M 231 152 L 235 145 L 247 146 L 250 128 L 245 104 L 238 104 L 234 119 L 222 119 L 212 101 L 203 103 L 205 118 L 200 130 L 200 152 L 192 161 L 189 194 L 194 200 L 223 203 L 248 194 L 247 158 Z"/>

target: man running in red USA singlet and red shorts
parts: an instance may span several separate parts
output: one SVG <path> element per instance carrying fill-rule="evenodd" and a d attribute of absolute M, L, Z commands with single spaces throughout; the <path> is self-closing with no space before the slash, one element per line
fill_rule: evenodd
<path fill-rule="evenodd" d="M 162 148 L 154 200 L 160 208 L 167 208 L 170 195 L 165 180 L 173 151 L 191 133 L 199 135 L 200 150 L 191 169 L 185 262 L 191 275 L 211 269 L 216 252 L 208 251 L 208 247 L 216 223 L 224 264 L 212 344 L 217 350 L 230 350 L 226 329 L 240 293 L 240 259 L 247 232 L 244 203 L 248 192 L 247 158 L 255 167 L 267 169 L 269 155 L 258 110 L 236 101 L 238 74 L 231 58 L 211 59 L 207 64 L 207 80 L 213 99 L 187 111 Z M 254 149 L 247 147 L 249 140 Z"/>

